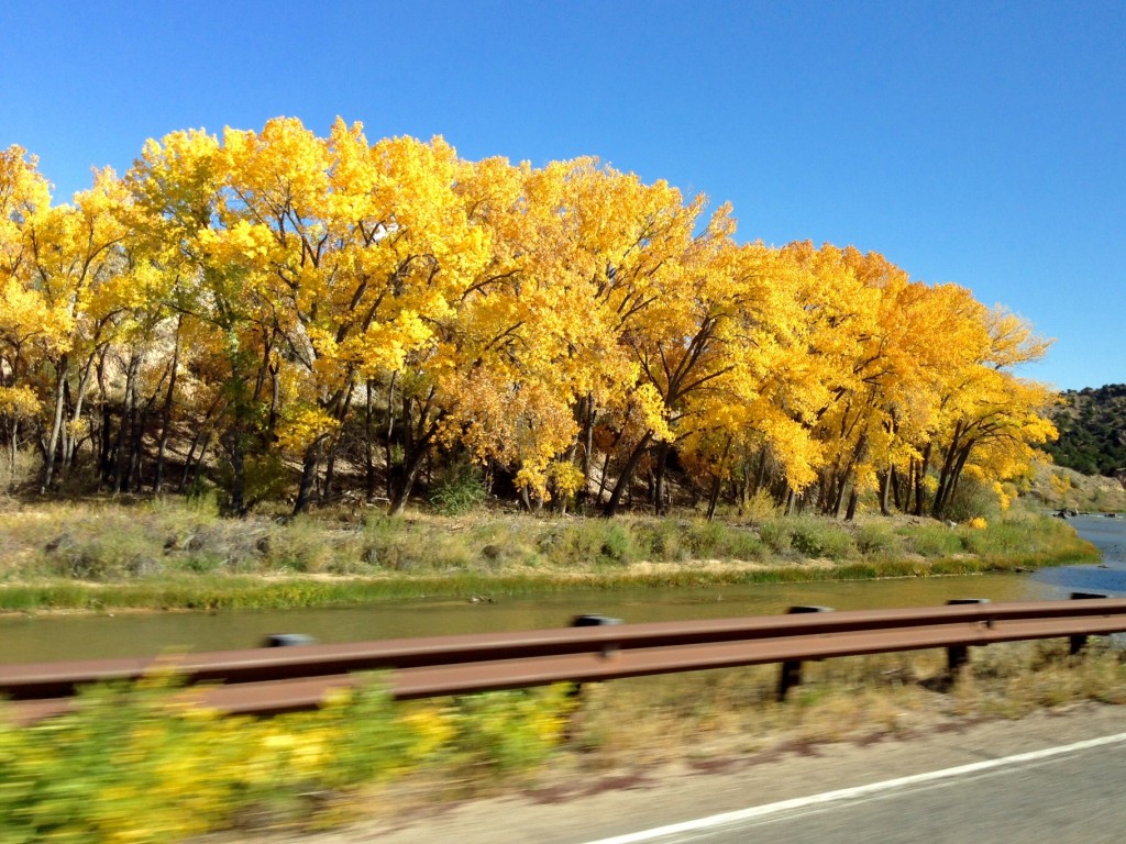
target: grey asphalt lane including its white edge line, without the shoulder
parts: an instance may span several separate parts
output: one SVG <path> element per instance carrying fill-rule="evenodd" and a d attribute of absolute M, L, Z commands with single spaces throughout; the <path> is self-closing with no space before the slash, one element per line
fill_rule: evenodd
<path fill-rule="evenodd" d="M 1126 734 L 812 794 L 598 844 L 1118 842 Z"/>

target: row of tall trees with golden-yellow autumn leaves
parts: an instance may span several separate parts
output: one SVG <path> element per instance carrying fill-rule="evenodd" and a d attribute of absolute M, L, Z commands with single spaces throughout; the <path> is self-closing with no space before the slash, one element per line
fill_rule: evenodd
<path fill-rule="evenodd" d="M 769 490 L 941 515 L 966 473 L 1010 477 L 1053 436 L 1052 394 L 1013 374 L 1046 349 L 1019 317 L 734 230 L 592 159 L 470 162 L 342 120 L 177 132 L 70 205 L 14 146 L 9 460 L 36 450 L 43 491 L 80 464 L 158 492 L 217 464 L 234 512 L 286 466 L 296 511 L 352 483 L 399 512 L 459 454 L 529 506 L 613 514 L 645 473 L 660 509 L 676 466 L 712 510 Z"/>

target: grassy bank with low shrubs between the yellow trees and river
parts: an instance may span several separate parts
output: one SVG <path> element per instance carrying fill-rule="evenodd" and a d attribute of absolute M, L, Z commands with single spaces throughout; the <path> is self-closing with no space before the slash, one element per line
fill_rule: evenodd
<path fill-rule="evenodd" d="M 0 610 L 215 610 L 422 596 L 975 574 L 1090 562 L 1064 522 L 618 520 L 479 511 L 220 519 L 206 502 L 0 511 Z"/>

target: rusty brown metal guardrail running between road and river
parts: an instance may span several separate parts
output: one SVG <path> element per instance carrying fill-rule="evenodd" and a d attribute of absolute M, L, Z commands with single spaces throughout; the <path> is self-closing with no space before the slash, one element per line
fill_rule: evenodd
<path fill-rule="evenodd" d="M 270 715 L 313 709 L 333 689 L 359 682 L 356 672 L 388 671 L 392 694 L 408 700 L 763 663 L 784 665 L 779 694 L 785 695 L 799 682 L 801 663 L 808 659 L 945 647 L 955 671 L 972 646 L 1067 637 L 1075 652 L 1088 636 L 1126 631 L 1126 599 L 1074 596 L 1085 600 L 951 602 L 920 609 L 9 664 L 0 665 L 0 695 L 14 701 L 19 720 L 29 721 L 65 711 L 68 695 L 81 685 L 172 670 L 188 684 L 208 684 L 200 692 L 205 706 Z"/>

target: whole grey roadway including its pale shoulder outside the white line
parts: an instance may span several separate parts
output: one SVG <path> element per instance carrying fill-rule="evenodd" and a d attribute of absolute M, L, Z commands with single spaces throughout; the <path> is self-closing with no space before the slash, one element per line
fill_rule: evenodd
<path fill-rule="evenodd" d="M 951 724 L 873 744 L 821 745 L 696 765 L 592 773 L 502 798 L 392 812 L 330 834 L 261 841 L 1118 842 L 1126 829 L 1123 734 L 1126 707 L 1083 704 L 1019 721 Z M 1083 742 L 1094 746 L 1057 749 Z M 935 772 L 950 769 L 963 770 L 936 776 Z M 854 793 L 817 798 L 842 790 Z M 772 807 L 766 814 L 759 809 L 758 817 L 747 812 L 784 801 L 787 805 L 781 809 Z M 647 832 L 729 812 L 749 817 L 741 825 L 705 821 L 668 835 Z M 234 838 L 214 837 L 207 844 L 229 841 Z"/>

